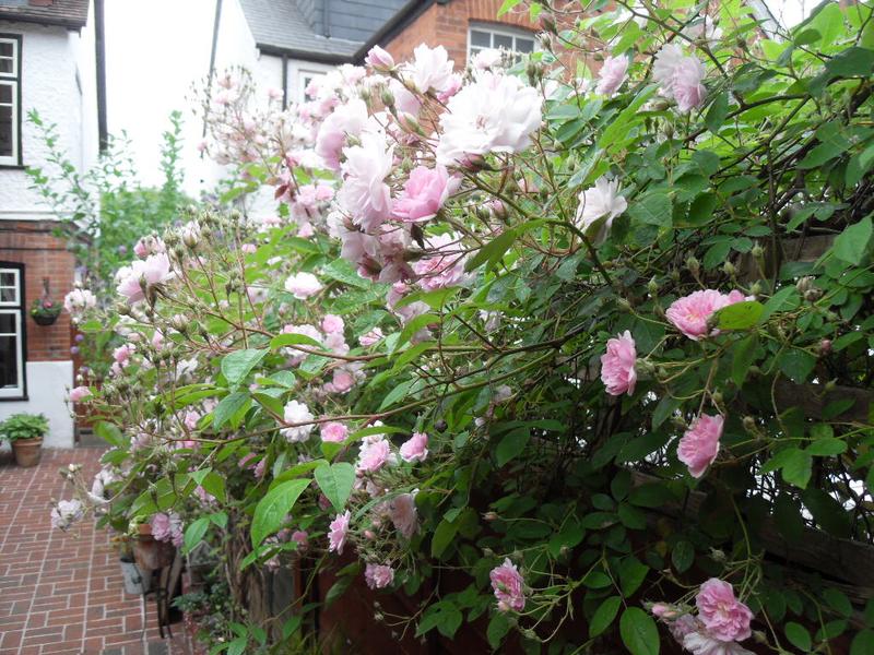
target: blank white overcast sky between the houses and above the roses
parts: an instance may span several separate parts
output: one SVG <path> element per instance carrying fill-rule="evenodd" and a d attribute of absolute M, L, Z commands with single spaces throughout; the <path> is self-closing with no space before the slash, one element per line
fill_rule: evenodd
<path fill-rule="evenodd" d="M 778 20 L 794 25 L 818 1 L 767 4 Z M 109 133 L 127 132 L 143 182 L 158 183 L 161 134 L 169 127 L 170 111 L 181 110 L 186 190 L 197 196 L 202 124 L 186 97 L 209 72 L 215 0 L 106 0 L 105 5 Z"/>

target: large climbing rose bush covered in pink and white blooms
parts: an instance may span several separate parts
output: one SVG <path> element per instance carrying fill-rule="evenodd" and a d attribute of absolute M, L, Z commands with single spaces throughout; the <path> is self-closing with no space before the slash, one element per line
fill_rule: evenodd
<path fill-rule="evenodd" d="M 872 543 L 871 7 L 505 10 L 542 49 L 209 88 L 224 201 L 276 212 L 69 299 L 126 340 L 71 393 L 113 445 L 83 502 L 225 561 L 238 624 L 295 565 L 410 595 L 408 638 L 863 652 L 866 573 L 815 552 Z"/>

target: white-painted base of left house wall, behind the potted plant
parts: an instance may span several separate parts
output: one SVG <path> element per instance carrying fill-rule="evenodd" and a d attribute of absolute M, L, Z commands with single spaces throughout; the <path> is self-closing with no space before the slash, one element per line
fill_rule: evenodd
<path fill-rule="evenodd" d="M 28 400 L 0 403 L 0 420 L 19 412 L 44 414 L 49 432 L 43 448 L 73 448 L 73 419 L 64 402 L 67 389 L 73 383 L 73 362 L 28 361 L 26 368 Z"/>

